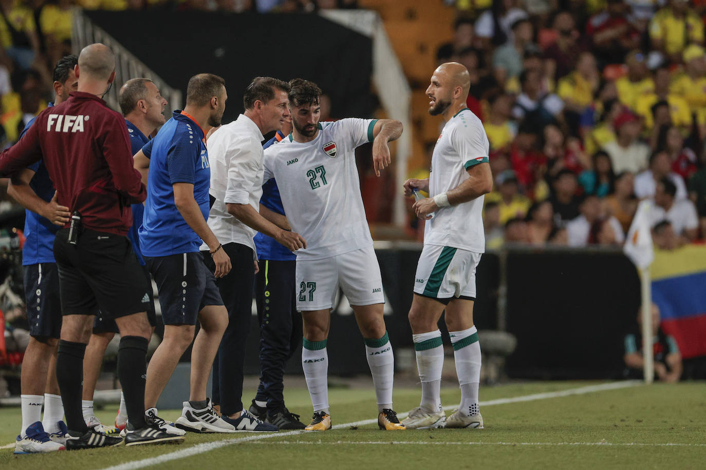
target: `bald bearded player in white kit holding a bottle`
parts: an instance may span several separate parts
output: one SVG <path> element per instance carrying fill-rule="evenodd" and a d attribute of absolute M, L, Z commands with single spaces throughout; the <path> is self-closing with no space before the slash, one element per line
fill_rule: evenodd
<path fill-rule="evenodd" d="M 493 177 L 488 137 L 466 107 L 469 87 L 468 70 L 460 63 L 443 63 L 434 70 L 426 89 L 429 113 L 441 114 L 446 124 L 434 147 L 429 178 L 404 185 L 406 196 L 415 188 L 429 192 L 429 198 L 413 206 L 426 225 L 409 310 L 421 379 L 421 403 L 402 421 L 412 429 L 483 428 L 478 408 L 481 348 L 473 302 L 476 266 L 485 251 L 483 199 Z M 443 346 L 437 322 L 444 309 L 461 387 L 461 404 L 448 419 L 439 395 Z"/>

